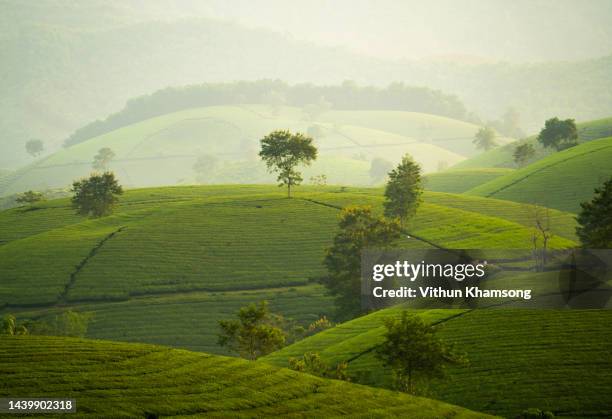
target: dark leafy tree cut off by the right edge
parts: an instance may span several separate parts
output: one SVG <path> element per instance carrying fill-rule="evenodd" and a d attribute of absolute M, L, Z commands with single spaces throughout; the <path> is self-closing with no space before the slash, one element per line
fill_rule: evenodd
<path fill-rule="evenodd" d="M 576 234 L 585 248 L 612 249 L 612 177 L 595 189 L 590 202 L 580 204 Z"/>

